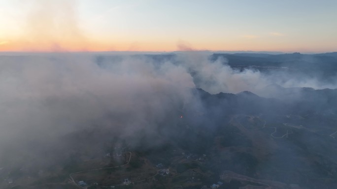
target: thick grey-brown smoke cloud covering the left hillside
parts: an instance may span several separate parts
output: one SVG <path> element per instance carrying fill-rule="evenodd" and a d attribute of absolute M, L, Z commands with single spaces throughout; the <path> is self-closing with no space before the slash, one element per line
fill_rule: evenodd
<path fill-rule="evenodd" d="M 188 101 L 187 87 L 194 87 L 183 67 L 155 70 L 130 58 L 104 69 L 90 57 L 71 55 L 2 58 L 0 66 L 1 140 L 53 138 L 107 114 L 126 116 L 114 124 L 136 132 Z"/>

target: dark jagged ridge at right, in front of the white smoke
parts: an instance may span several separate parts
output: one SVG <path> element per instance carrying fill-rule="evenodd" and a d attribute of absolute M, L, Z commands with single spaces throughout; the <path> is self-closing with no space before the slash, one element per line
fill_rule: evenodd
<path fill-rule="evenodd" d="M 273 91 L 274 96 L 270 95 L 270 98 L 260 97 L 250 91 L 211 95 L 202 89 L 196 90 L 205 107 L 218 107 L 226 113 L 302 112 L 306 114 L 315 109 L 328 110 L 337 114 L 337 89 L 284 88 L 276 84 L 267 86 L 266 90 L 268 88 L 276 89 Z"/>

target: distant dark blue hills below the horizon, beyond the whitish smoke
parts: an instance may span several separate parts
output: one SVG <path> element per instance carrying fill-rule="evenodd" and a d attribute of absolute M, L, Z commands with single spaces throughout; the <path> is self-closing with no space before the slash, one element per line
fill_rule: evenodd
<path fill-rule="evenodd" d="M 333 80 L 337 73 L 337 53 L 325 54 L 212 54 L 211 61 L 220 60 L 232 68 L 254 68 L 261 72 L 287 71 L 324 80 Z"/>

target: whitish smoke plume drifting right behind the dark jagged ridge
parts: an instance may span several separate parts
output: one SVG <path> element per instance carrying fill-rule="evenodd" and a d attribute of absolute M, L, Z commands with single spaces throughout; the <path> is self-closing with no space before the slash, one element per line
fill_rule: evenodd
<path fill-rule="evenodd" d="M 275 71 L 274 74 L 266 75 L 256 69 L 235 70 L 226 64 L 227 60 L 219 58 L 211 62 L 205 54 L 181 54 L 179 58 L 183 66 L 193 75 L 195 85 L 211 94 L 238 93 L 247 90 L 264 96 L 265 87 L 270 84 L 315 89 L 336 88 L 336 83 L 326 83 L 303 74 L 291 75 Z"/>

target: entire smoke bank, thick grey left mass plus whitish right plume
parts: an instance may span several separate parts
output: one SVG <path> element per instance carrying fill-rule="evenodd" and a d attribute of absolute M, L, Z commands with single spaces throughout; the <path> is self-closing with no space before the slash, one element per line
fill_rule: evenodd
<path fill-rule="evenodd" d="M 195 87 L 262 95 L 271 83 L 324 87 L 315 79 L 239 72 L 204 54 L 160 63 L 139 55 L 119 58 L 98 63 L 89 54 L 1 56 L 0 153 L 26 141 L 58 142 L 94 125 L 121 136 L 156 135 L 158 124 L 178 118 L 182 109 L 201 108 L 190 90 Z"/>

